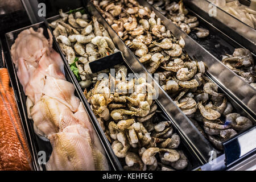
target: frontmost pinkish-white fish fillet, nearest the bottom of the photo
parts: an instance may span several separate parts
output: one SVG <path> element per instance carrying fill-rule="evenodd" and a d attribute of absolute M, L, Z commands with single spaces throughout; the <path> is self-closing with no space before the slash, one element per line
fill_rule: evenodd
<path fill-rule="evenodd" d="M 50 138 L 52 155 L 46 164 L 49 171 L 92 171 L 93 152 L 87 138 L 77 133 L 60 132 Z"/>

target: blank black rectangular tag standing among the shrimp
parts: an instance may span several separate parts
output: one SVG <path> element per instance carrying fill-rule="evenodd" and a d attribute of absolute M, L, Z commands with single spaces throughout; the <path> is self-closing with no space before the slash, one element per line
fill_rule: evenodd
<path fill-rule="evenodd" d="M 122 64 L 123 62 L 125 62 L 123 55 L 120 51 L 118 51 L 112 55 L 90 62 L 89 67 L 92 73 L 97 73 L 104 69 L 113 68 L 114 65 Z"/>

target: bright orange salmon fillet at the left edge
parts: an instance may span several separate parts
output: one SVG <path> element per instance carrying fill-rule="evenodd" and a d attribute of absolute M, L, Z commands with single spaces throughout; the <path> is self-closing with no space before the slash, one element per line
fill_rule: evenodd
<path fill-rule="evenodd" d="M 6 68 L 0 68 L 0 170 L 31 170 L 31 154 L 23 133 Z"/>

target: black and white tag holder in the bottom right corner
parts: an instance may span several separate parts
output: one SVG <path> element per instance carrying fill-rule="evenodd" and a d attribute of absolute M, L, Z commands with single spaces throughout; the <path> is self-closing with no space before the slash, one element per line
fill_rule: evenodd
<path fill-rule="evenodd" d="M 226 167 L 256 152 L 256 126 L 223 143 Z"/>

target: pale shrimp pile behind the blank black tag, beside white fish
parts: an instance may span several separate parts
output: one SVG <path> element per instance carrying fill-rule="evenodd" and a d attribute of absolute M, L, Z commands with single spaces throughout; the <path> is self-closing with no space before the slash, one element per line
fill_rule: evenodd
<path fill-rule="evenodd" d="M 66 56 L 68 63 L 75 61 L 78 68 L 82 88 L 88 88 L 92 82 L 89 62 L 108 56 L 118 49 L 110 38 L 108 31 L 98 23 L 97 18 L 88 14 L 63 13 L 59 11 L 61 18 L 49 24 L 53 30 L 60 48 Z"/>

